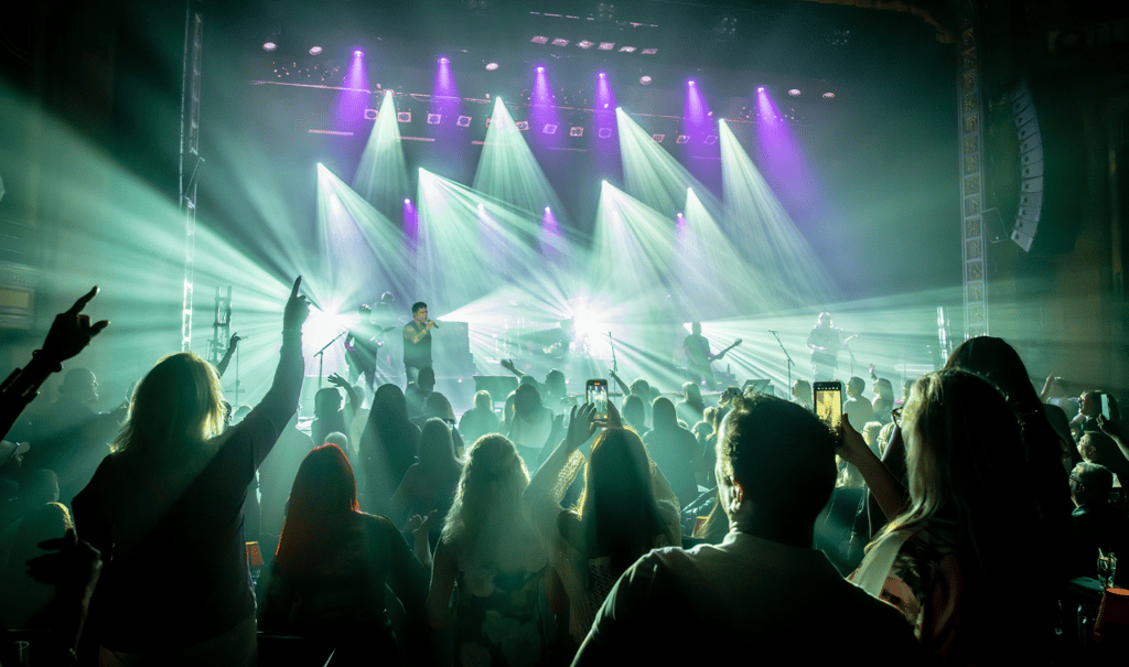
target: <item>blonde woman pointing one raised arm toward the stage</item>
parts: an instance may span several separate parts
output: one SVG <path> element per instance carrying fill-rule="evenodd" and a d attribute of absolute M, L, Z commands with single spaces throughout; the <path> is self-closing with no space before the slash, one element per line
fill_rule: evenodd
<path fill-rule="evenodd" d="M 113 554 L 87 626 L 100 665 L 254 664 L 243 504 L 298 406 L 309 315 L 300 286 L 301 278 L 282 315 L 274 381 L 246 419 L 221 432 L 216 369 L 191 352 L 169 354 L 137 386 L 114 453 L 75 499 L 82 537 Z"/>

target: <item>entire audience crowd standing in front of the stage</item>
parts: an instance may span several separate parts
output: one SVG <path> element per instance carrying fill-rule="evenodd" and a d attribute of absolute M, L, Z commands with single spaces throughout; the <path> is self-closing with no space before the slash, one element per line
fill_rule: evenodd
<path fill-rule="evenodd" d="M 430 368 L 370 404 L 332 375 L 299 430 L 300 278 L 254 406 L 224 400 L 227 358 L 181 352 L 97 412 L 95 374 L 63 369 L 108 325 L 84 314 L 96 295 L 0 386 L 5 667 L 689 664 L 724 646 L 1073 664 L 1126 581 L 1104 570 L 1129 554 L 1114 396 L 1075 401 L 1056 376 L 1036 392 L 999 339 L 901 400 L 873 366 L 870 395 L 846 378 L 838 424 L 804 379 L 786 401 L 613 376 L 604 418 L 560 370 L 506 362 L 516 390 L 461 418 Z M 58 400 L 33 404 L 52 374 Z"/>

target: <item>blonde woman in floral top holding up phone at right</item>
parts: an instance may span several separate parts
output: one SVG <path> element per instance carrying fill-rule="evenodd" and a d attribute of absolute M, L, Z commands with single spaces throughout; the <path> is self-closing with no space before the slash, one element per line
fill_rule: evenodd
<path fill-rule="evenodd" d="M 942 370 L 913 385 L 899 421 L 908 493 L 843 419 L 840 454 L 891 517 L 855 582 L 900 590 L 918 638 L 947 662 L 1040 655 L 1054 594 L 1042 583 L 1049 563 L 1033 542 L 1042 521 L 1015 413 L 980 376 Z"/>

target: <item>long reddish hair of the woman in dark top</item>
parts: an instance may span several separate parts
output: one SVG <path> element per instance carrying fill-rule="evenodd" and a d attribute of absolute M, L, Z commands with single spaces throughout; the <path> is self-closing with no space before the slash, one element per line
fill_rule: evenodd
<path fill-rule="evenodd" d="M 286 574 L 308 572 L 341 544 L 360 507 L 357 480 L 336 445 L 306 455 L 290 490 L 274 568 Z"/>

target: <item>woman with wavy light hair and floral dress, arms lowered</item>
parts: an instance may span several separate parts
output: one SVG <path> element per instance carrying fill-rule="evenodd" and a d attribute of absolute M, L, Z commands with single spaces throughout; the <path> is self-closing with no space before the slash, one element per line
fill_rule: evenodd
<path fill-rule="evenodd" d="M 505 436 L 483 436 L 466 450 L 427 599 L 432 627 L 456 620 L 456 664 L 544 661 L 537 600 L 546 559 L 522 503 L 528 483 L 530 473 Z"/>

